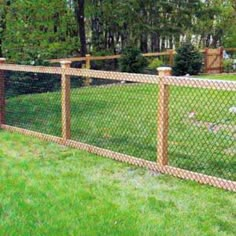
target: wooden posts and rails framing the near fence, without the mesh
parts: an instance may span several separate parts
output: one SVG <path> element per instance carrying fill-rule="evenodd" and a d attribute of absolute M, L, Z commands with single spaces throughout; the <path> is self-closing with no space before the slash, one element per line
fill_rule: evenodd
<path fill-rule="evenodd" d="M 188 179 L 197 181 L 202 184 L 208 184 L 218 188 L 222 188 L 229 191 L 236 192 L 236 182 L 230 181 L 214 176 L 209 176 L 189 170 L 176 168 L 168 165 L 168 97 L 170 86 L 184 86 L 194 88 L 206 88 L 216 89 L 225 91 L 236 92 L 236 82 L 234 81 L 220 81 L 220 80 L 202 80 L 192 79 L 188 77 L 174 77 L 174 76 L 155 76 L 155 75 L 142 75 L 142 74 L 128 74 L 120 72 L 106 72 L 106 71 L 94 71 L 86 69 L 74 69 L 69 68 L 70 63 L 62 63 L 61 68 L 59 67 L 32 67 L 23 65 L 11 65 L 4 64 L 4 60 L 0 60 L 0 128 L 18 132 L 24 135 L 40 138 L 42 140 L 56 142 L 61 145 L 66 145 L 73 148 L 79 148 L 90 153 L 94 153 L 100 156 L 108 157 L 117 161 L 129 163 L 139 167 L 145 167 L 153 171 L 158 171 L 163 174 L 169 174 L 182 179 Z M 62 135 L 61 137 L 51 136 L 44 133 L 39 133 L 31 130 L 26 130 L 18 127 L 13 127 L 5 124 L 5 98 L 4 98 L 4 71 L 24 71 L 24 72 L 35 72 L 35 73 L 50 73 L 60 74 L 62 82 Z M 122 153 L 117 153 L 111 150 L 99 148 L 93 145 L 77 142 L 71 140 L 70 137 L 70 89 L 69 80 L 70 76 L 82 76 L 82 77 L 93 77 L 98 79 L 110 79 L 123 81 L 139 82 L 156 84 L 159 86 L 160 92 L 158 95 L 159 113 L 158 113 L 158 147 L 157 147 L 157 161 L 147 161 L 139 159 L 134 156 L 129 156 Z M 160 140 L 161 139 L 161 140 Z"/>

